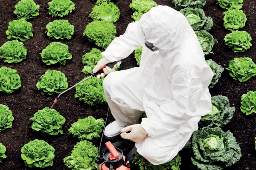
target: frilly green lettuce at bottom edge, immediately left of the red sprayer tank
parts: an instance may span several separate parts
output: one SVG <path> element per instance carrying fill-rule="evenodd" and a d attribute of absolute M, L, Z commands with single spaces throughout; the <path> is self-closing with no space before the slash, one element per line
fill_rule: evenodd
<path fill-rule="evenodd" d="M 64 158 L 63 162 L 72 170 L 96 170 L 95 160 L 98 152 L 98 147 L 95 147 L 92 142 L 80 141 L 74 146 L 71 156 Z"/>

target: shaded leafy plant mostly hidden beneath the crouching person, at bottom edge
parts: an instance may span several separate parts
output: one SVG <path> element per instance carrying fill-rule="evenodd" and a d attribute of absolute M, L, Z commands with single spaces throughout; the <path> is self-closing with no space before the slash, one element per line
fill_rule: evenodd
<path fill-rule="evenodd" d="M 132 163 L 138 164 L 141 170 L 170 170 L 170 168 L 172 168 L 172 170 L 180 170 L 180 161 L 181 157 L 178 153 L 171 161 L 166 162 L 165 164 L 153 165 L 143 156 L 136 152 L 135 158 Z"/>

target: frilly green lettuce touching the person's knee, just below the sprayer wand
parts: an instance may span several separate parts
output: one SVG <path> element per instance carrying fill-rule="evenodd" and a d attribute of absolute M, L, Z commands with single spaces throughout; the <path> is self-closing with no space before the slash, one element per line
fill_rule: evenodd
<path fill-rule="evenodd" d="M 77 85 L 75 99 L 78 98 L 79 101 L 89 106 L 96 106 L 96 104 L 107 102 L 103 89 L 103 80 L 104 78 L 92 77 Z"/>

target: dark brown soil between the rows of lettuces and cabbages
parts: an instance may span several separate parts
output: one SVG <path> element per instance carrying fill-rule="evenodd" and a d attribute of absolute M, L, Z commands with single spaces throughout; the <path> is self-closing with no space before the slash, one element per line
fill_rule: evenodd
<path fill-rule="evenodd" d="M 44 96 L 41 95 L 36 87 L 36 83 L 39 81 L 39 77 L 44 74 L 48 69 L 56 69 L 63 72 L 66 77 L 69 86 L 73 86 L 78 83 L 82 78 L 88 76 L 81 72 L 83 65 L 81 62 L 82 55 L 85 52 L 90 52 L 90 49 L 97 47 L 93 43 L 89 43 L 86 37 L 83 36 L 83 31 L 88 23 L 93 20 L 89 17 L 91 9 L 95 5 L 95 2 L 91 0 L 73 0 L 76 9 L 69 16 L 63 17 L 63 19 L 69 20 L 69 22 L 75 26 L 75 34 L 70 40 L 58 40 L 58 42 L 65 43 L 69 46 L 69 51 L 73 55 L 73 58 L 67 62 L 65 66 L 47 66 L 42 62 L 40 52 L 49 45 L 52 41 L 49 40 L 46 33 L 46 25 L 55 19 L 48 14 L 47 3 L 50 0 L 34 0 L 36 4 L 40 5 L 40 15 L 35 19 L 28 20 L 32 23 L 32 27 L 35 30 L 34 37 L 24 41 L 24 46 L 28 49 L 26 59 L 20 63 L 8 64 L 0 61 L 1 66 L 11 67 L 17 70 L 17 74 L 20 75 L 22 86 L 10 95 L 0 95 L 0 104 L 4 104 L 12 110 L 14 121 L 12 128 L 4 130 L 0 133 L 0 142 L 6 146 L 7 158 L 0 163 L 0 170 L 29 170 L 36 168 L 28 168 L 25 166 L 23 160 L 20 157 L 20 149 L 24 144 L 29 141 L 39 139 L 47 141 L 55 148 L 55 160 L 52 167 L 45 168 L 45 170 L 68 170 L 63 163 L 63 158 L 69 156 L 73 146 L 79 140 L 68 135 L 67 130 L 71 124 L 77 121 L 79 118 L 85 118 L 88 115 L 93 115 L 95 118 L 103 118 L 107 114 L 108 105 L 98 105 L 96 107 L 89 107 L 78 100 L 74 100 L 75 89 L 70 90 L 66 94 L 62 95 L 54 109 L 60 112 L 66 118 L 66 123 L 63 127 L 64 133 L 57 136 L 42 136 L 33 132 L 30 128 L 32 118 L 35 112 L 44 107 L 50 107 L 56 96 Z M 166 5 L 173 7 L 171 0 L 155 0 L 158 5 Z M 16 16 L 13 13 L 14 6 L 18 0 L 0 0 L 0 45 L 9 41 L 5 31 L 8 29 L 8 22 L 15 20 Z M 117 34 L 122 35 L 125 32 L 126 27 L 133 21 L 131 15 L 133 11 L 129 7 L 131 0 L 114 0 L 113 3 L 119 8 L 121 14 L 119 20 L 115 23 Z M 223 12 L 215 0 L 207 0 L 204 11 L 206 16 L 213 18 L 214 26 L 209 31 L 214 38 L 218 39 L 218 46 L 213 48 L 215 53 L 212 60 L 222 67 L 227 68 L 229 61 L 233 58 L 250 57 L 256 62 L 256 23 L 255 20 L 255 7 L 256 1 L 244 0 L 242 10 L 247 15 L 246 26 L 241 29 L 247 31 L 252 37 L 252 48 L 246 52 L 235 53 L 231 49 L 228 49 L 224 45 L 223 38 L 230 33 L 223 26 Z M 209 59 L 209 58 L 207 58 Z M 136 60 L 134 54 L 131 54 L 125 59 L 124 69 L 136 67 Z M 241 95 L 248 91 L 256 91 L 255 78 L 245 83 L 233 80 L 229 75 L 229 72 L 225 69 L 221 75 L 218 84 L 214 88 L 210 89 L 211 95 L 225 95 L 230 99 L 231 107 L 236 107 L 236 112 L 233 119 L 228 125 L 224 127 L 224 131 L 230 130 L 240 144 L 242 158 L 238 163 L 231 167 L 225 167 L 224 170 L 244 170 L 244 169 L 256 169 L 256 150 L 254 150 L 254 137 L 256 136 L 256 116 L 246 116 L 240 111 Z M 82 110 L 81 110 L 82 109 Z M 113 121 L 112 115 L 108 118 L 108 123 Z M 99 146 L 99 139 L 93 140 L 93 144 Z M 107 140 L 104 139 L 103 144 Z M 123 141 L 121 137 L 116 138 L 115 141 Z M 103 146 L 103 145 L 102 145 Z M 180 151 L 182 156 L 181 170 L 187 170 L 190 166 L 189 157 L 187 157 L 187 150 Z M 137 166 L 132 166 L 132 170 L 139 169 Z"/>

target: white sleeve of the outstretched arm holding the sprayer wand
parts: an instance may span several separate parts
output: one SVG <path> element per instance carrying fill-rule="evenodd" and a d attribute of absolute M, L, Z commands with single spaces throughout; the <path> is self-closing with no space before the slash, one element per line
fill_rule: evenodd
<path fill-rule="evenodd" d="M 145 36 L 140 29 L 140 21 L 129 23 L 125 34 L 116 37 L 105 50 L 102 57 L 109 61 L 127 58 L 135 49 L 144 45 Z"/>

